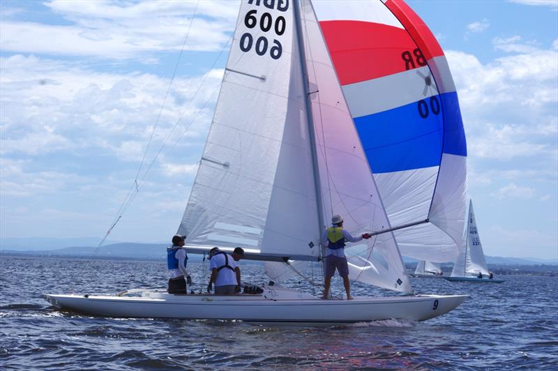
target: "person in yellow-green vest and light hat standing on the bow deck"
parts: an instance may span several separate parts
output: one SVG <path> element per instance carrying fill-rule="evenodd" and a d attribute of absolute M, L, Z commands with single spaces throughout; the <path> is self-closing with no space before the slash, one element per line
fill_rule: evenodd
<path fill-rule="evenodd" d="M 345 257 L 345 242 L 358 242 L 362 239 L 370 239 L 370 235 L 365 233 L 358 237 L 353 237 L 343 228 L 343 218 L 341 215 L 333 215 L 331 225 L 322 236 L 322 246 L 326 246 L 326 272 L 324 279 L 324 296 L 322 299 L 329 298 L 329 286 L 331 278 L 335 274 L 335 269 L 343 279 L 347 300 L 351 300 L 351 282 L 349 282 L 349 265 Z"/>

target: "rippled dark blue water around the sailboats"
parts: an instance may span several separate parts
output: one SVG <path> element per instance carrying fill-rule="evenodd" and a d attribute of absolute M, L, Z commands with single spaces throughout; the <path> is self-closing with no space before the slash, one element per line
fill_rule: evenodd
<path fill-rule="evenodd" d="M 417 293 L 471 298 L 425 322 L 326 328 L 87 317 L 56 311 L 41 298 L 163 287 L 165 268 L 0 255 L 0 369 L 558 369 L 558 278 L 505 276 L 500 285 L 414 279 Z M 191 268 L 195 283 L 206 282 L 201 263 Z M 243 264 L 242 271 L 250 282 L 265 281 L 261 266 Z M 380 292 L 353 288 L 357 296 Z M 338 280 L 334 290 L 342 294 Z"/>

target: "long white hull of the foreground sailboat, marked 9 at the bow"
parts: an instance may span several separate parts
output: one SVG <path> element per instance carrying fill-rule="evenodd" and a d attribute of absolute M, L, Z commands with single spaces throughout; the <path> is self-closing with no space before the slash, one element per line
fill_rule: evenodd
<path fill-rule="evenodd" d="M 466 295 L 393 296 L 322 300 L 294 292 L 262 295 L 173 295 L 150 292 L 142 297 L 45 295 L 62 310 L 107 317 L 238 319 L 257 322 L 338 324 L 381 319 L 423 321 L 444 315 Z M 292 293 L 289 295 L 289 293 Z M 285 297 L 286 296 L 286 297 Z M 289 297 L 290 296 L 290 297 Z"/>

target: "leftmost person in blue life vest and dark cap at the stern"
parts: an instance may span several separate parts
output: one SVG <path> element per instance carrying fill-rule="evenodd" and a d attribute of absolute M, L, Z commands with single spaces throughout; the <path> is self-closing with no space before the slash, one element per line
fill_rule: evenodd
<path fill-rule="evenodd" d="M 169 294 L 188 294 L 186 283 L 192 284 L 190 274 L 186 271 L 188 255 L 183 248 L 186 236 L 175 234 L 172 236 L 172 246 L 167 248 L 167 268 L 169 274 Z"/>

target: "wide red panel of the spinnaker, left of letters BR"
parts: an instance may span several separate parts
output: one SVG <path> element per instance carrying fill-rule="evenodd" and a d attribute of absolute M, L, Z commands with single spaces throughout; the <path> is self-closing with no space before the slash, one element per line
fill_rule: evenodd
<path fill-rule="evenodd" d="M 417 47 L 407 31 L 386 24 L 335 20 L 319 25 L 341 85 L 403 72 L 402 53 Z"/>

